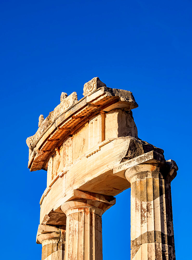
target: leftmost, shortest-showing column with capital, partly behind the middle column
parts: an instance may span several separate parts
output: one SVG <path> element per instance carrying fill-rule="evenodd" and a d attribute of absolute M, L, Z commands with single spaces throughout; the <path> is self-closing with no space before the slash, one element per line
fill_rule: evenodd
<path fill-rule="evenodd" d="M 42 244 L 42 260 L 64 260 L 65 226 L 39 225 L 37 244 Z"/>

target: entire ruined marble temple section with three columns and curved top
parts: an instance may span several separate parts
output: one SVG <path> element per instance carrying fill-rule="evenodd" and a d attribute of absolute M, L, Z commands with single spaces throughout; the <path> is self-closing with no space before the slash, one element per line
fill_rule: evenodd
<path fill-rule="evenodd" d="M 27 138 L 30 171 L 47 171 L 37 231 L 42 260 L 102 260 L 102 215 L 130 187 L 131 259 L 175 259 L 175 161 L 138 138 L 131 92 L 95 77 L 83 95 L 62 92 Z"/>

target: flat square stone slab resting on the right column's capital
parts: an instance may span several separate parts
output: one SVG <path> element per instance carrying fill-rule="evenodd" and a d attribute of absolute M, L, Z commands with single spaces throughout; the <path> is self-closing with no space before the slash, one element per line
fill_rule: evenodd
<path fill-rule="evenodd" d="M 122 162 L 113 168 L 113 173 L 125 178 L 125 171 L 130 167 L 139 165 L 139 164 L 155 164 L 155 163 L 165 163 L 165 158 L 162 154 L 157 153 L 155 151 L 150 151 L 148 153 L 144 153 L 139 155 L 131 160 L 127 160 Z"/>

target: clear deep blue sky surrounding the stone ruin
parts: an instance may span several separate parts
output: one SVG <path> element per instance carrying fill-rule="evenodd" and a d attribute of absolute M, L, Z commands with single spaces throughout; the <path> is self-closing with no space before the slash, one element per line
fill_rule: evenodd
<path fill-rule="evenodd" d="M 25 140 L 60 102 L 100 77 L 133 92 L 138 136 L 164 149 L 177 259 L 192 259 L 191 1 L 1 1 L 1 255 L 41 259 L 46 172 L 27 168 Z M 103 260 L 130 259 L 130 189 L 103 215 Z"/>

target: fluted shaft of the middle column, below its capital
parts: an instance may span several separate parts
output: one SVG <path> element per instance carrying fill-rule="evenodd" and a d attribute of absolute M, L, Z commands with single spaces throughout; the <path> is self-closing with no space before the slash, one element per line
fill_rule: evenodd
<path fill-rule="evenodd" d="M 66 246 L 66 259 L 102 260 L 102 219 L 94 208 L 70 210 Z"/>

